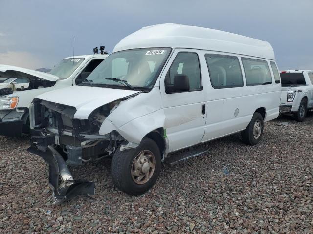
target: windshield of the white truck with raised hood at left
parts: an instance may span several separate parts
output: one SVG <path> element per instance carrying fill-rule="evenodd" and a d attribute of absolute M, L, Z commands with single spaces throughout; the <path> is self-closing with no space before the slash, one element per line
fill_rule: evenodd
<path fill-rule="evenodd" d="M 61 79 L 66 79 L 72 75 L 73 71 L 84 61 L 84 58 L 62 59 L 57 65 L 52 68 L 50 74 Z"/>

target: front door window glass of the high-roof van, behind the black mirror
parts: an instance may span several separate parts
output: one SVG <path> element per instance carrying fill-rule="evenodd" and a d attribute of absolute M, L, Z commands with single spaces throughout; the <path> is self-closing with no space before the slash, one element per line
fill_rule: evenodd
<path fill-rule="evenodd" d="M 179 52 L 165 77 L 165 83 L 173 84 L 175 75 L 186 75 L 189 78 L 189 91 L 201 89 L 199 58 L 196 53 Z"/>

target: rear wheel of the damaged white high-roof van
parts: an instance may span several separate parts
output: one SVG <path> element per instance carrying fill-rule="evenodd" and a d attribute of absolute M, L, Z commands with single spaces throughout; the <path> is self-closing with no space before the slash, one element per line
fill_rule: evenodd
<path fill-rule="evenodd" d="M 243 142 L 248 145 L 256 145 L 259 143 L 263 135 L 263 127 L 263 117 L 260 113 L 255 112 L 249 125 L 241 132 Z"/>

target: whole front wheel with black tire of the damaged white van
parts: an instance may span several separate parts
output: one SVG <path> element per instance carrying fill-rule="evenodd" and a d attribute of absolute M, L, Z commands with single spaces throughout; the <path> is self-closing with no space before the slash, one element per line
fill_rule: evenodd
<path fill-rule="evenodd" d="M 135 149 L 115 151 L 111 174 L 115 186 L 130 195 L 141 195 L 155 183 L 161 169 L 161 154 L 155 141 L 143 138 Z"/>

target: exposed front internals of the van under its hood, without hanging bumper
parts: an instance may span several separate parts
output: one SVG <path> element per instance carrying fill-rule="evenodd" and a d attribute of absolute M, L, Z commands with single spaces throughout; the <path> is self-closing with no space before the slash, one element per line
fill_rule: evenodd
<path fill-rule="evenodd" d="M 116 131 L 100 136 L 99 129 L 120 101 L 95 109 L 88 119 L 75 119 L 74 107 L 36 100 L 30 109 L 35 127 L 31 141 L 42 151 L 48 145 L 55 145 L 67 164 L 71 165 L 110 156 L 125 140 Z"/>

